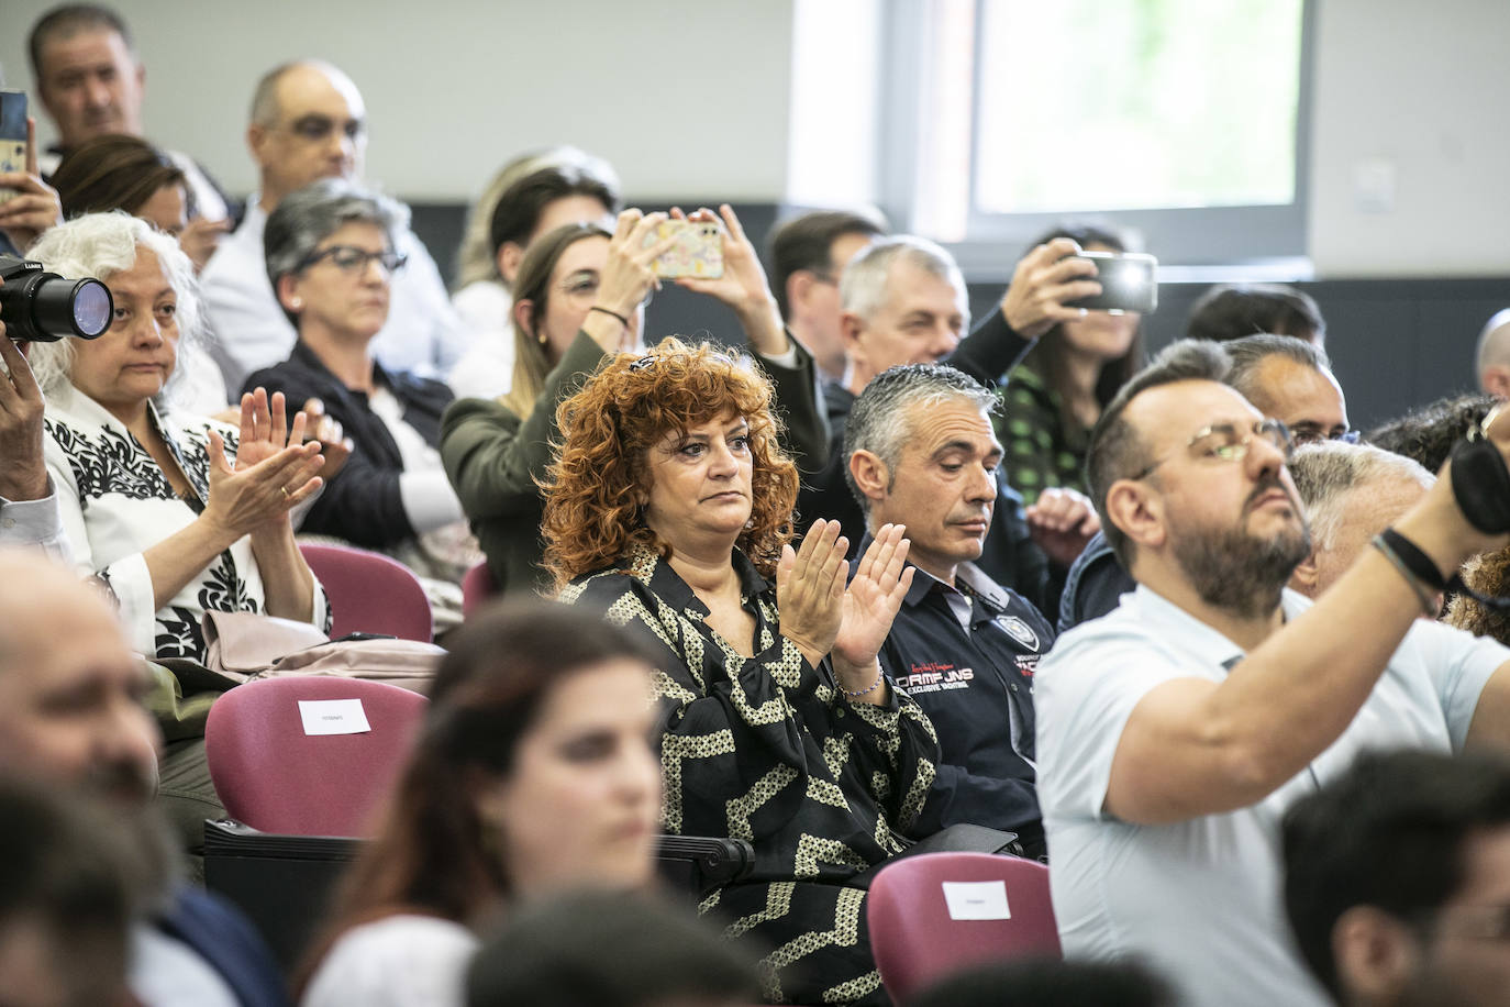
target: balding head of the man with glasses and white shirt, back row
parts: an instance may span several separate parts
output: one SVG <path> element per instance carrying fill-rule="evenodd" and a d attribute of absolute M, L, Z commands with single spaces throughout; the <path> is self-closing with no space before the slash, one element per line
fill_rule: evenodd
<path fill-rule="evenodd" d="M 285 195 L 320 178 L 361 177 L 367 106 L 352 79 L 331 63 L 284 63 L 257 85 L 246 143 L 261 172 L 261 205 L 272 211 Z"/>

